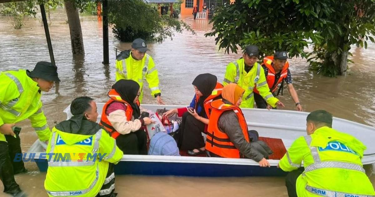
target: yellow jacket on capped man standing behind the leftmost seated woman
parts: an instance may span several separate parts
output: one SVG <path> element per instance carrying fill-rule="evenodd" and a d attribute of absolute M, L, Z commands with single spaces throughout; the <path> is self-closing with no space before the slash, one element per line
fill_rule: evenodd
<path fill-rule="evenodd" d="M 120 79 L 133 80 L 139 84 L 141 87 L 139 102 L 142 102 L 143 98 L 144 80 L 147 80 L 152 96 L 160 93 L 157 70 L 152 57 L 147 53 L 142 60 L 136 60 L 131 52 L 122 51 L 116 59 L 116 81 Z"/>

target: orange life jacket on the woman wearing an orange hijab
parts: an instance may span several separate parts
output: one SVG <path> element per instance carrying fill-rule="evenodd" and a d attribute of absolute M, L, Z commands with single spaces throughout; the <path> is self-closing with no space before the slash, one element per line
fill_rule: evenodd
<path fill-rule="evenodd" d="M 207 141 L 205 149 L 225 158 L 243 158 L 240 151 L 229 140 L 225 132 L 220 131 L 218 126 L 219 117 L 224 111 L 233 110 L 239 119 L 245 140 L 250 143 L 248 125 L 241 109 L 235 105 L 225 104 L 222 99 L 211 102 L 212 112 L 208 122 Z"/>

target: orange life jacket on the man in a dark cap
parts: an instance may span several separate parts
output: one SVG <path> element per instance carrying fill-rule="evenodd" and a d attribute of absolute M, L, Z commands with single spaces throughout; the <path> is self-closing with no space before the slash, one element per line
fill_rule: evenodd
<path fill-rule="evenodd" d="M 270 88 L 271 92 L 275 92 L 278 89 L 278 84 L 281 83 L 282 80 L 287 78 L 289 63 L 288 61 L 285 63 L 284 68 L 282 68 L 281 70 L 279 80 L 277 81 L 275 86 L 272 87 L 273 84 L 275 83 L 275 75 L 276 75 L 275 69 L 273 69 L 273 66 L 272 66 L 272 60 L 273 60 L 273 56 L 267 56 L 263 59 L 262 65 L 265 65 L 268 68 L 268 74 L 267 74 L 267 79 L 266 79 L 268 87 Z M 254 89 L 254 92 L 259 94 L 259 91 L 257 90 L 257 88 Z"/>

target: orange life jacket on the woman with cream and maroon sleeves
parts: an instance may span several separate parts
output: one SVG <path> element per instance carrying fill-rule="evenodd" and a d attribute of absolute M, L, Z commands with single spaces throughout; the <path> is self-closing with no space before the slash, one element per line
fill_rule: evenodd
<path fill-rule="evenodd" d="M 126 116 L 126 120 L 130 121 L 132 120 L 132 116 L 133 116 L 133 108 L 129 103 L 121 99 L 121 96 L 114 89 L 111 89 L 108 92 L 108 96 L 110 97 L 110 99 L 107 101 L 107 103 L 105 103 L 103 107 L 102 118 L 100 120 L 99 125 L 103 126 L 105 130 L 110 132 L 111 136 L 116 139 L 121 134 L 117 132 L 115 128 L 113 128 L 111 122 L 108 120 L 107 114 L 105 114 L 105 111 L 107 111 L 107 108 L 108 106 L 110 106 L 111 103 L 121 102 L 124 105 L 126 105 L 125 116 Z M 137 105 L 139 106 L 139 101 L 137 102 Z"/>

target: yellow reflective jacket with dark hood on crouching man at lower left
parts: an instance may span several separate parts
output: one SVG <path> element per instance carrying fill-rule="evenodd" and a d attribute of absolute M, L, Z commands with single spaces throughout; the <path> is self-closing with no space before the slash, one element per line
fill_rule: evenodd
<path fill-rule="evenodd" d="M 123 156 L 115 140 L 83 116 L 73 116 L 56 125 L 46 152 L 55 153 L 51 158 L 46 156 L 50 160 L 44 187 L 50 197 L 105 194 L 102 185 L 114 178 L 106 178 L 108 165 L 117 164 Z"/>

